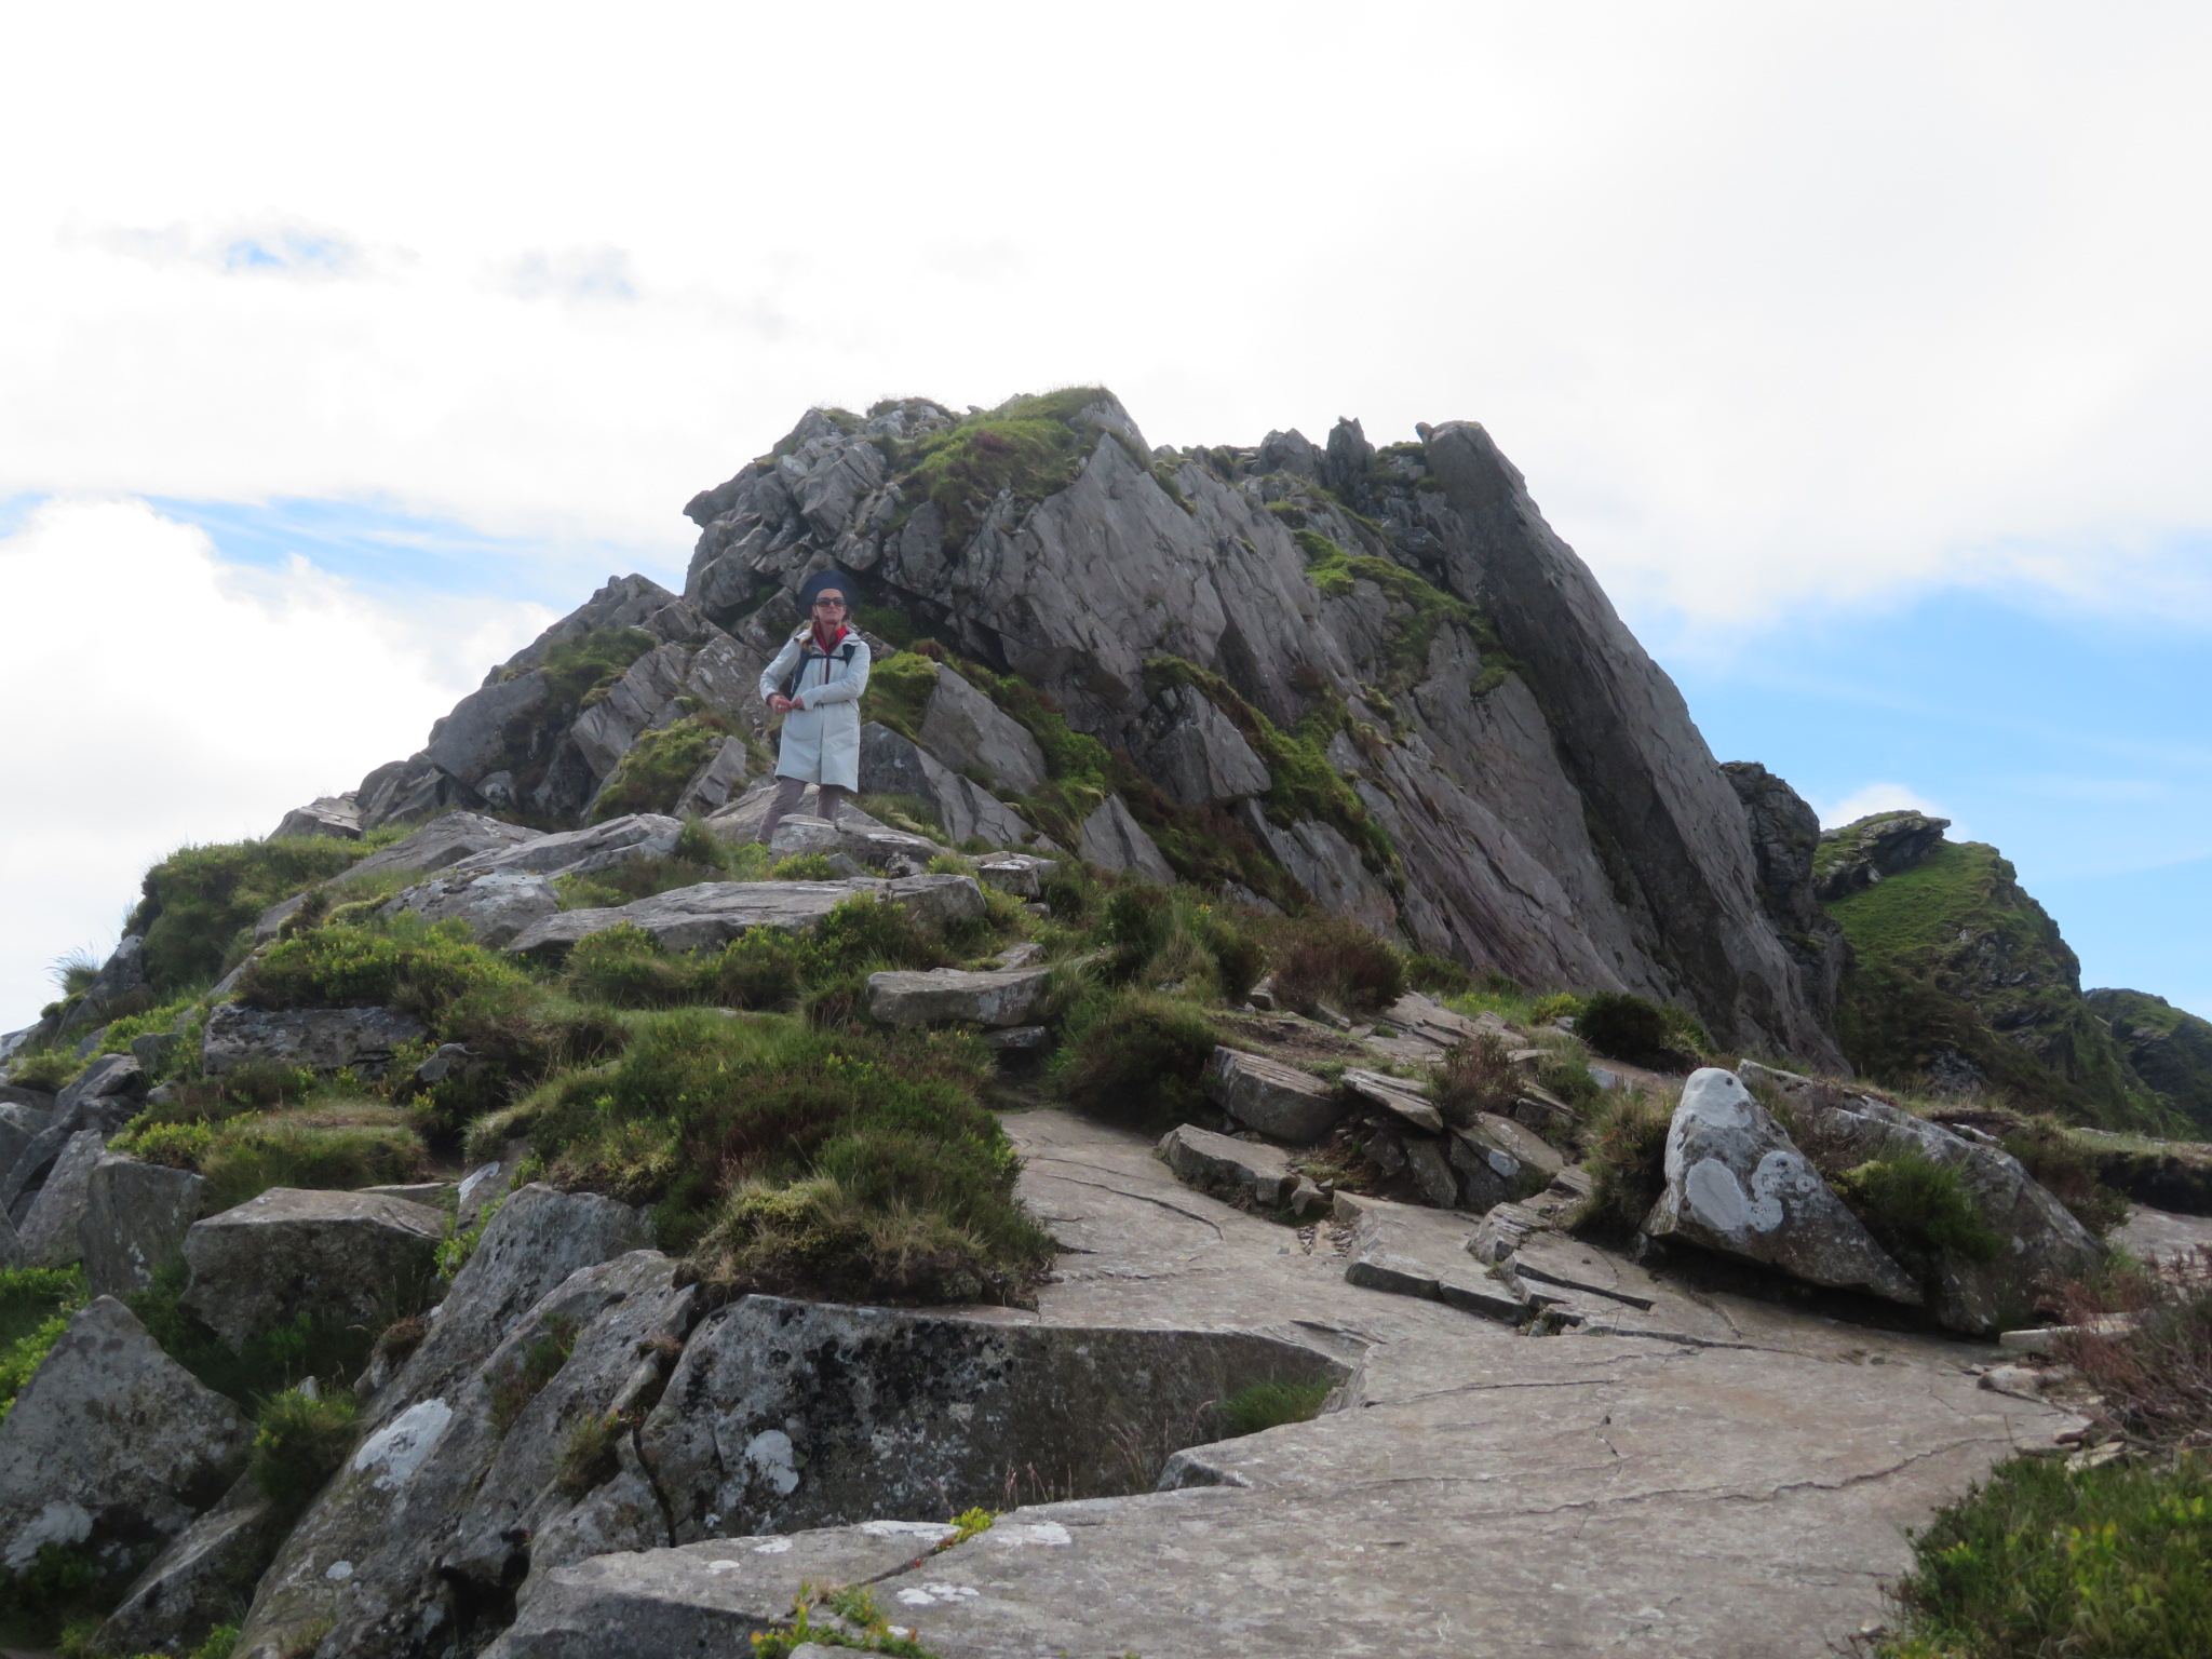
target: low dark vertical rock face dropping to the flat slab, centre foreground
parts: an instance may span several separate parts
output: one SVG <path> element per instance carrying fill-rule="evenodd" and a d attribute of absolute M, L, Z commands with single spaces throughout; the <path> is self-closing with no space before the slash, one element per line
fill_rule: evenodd
<path fill-rule="evenodd" d="M 1079 1493 L 1148 1489 L 1159 1464 L 1133 1464 L 1117 1429 L 1201 1422 L 1208 1402 L 1256 1380 L 1343 1376 L 1263 1336 L 748 1296 L 692 1334 L 639 1449 L 677 1542 L 925 1520 L 1004 1491 L 1029 1464 Z"/>

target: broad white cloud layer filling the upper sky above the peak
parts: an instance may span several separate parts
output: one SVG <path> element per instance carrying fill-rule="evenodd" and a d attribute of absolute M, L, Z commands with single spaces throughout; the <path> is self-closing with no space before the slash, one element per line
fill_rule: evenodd
<path fill-rule="evenodd" d="M 1102 378 L 1166 442 L 1482 418 L 1639 615 L 2212 622 L 2212 13 L 1338 24 L 33 9 L 0 495 L 644 544 L 812 400 Z"/>

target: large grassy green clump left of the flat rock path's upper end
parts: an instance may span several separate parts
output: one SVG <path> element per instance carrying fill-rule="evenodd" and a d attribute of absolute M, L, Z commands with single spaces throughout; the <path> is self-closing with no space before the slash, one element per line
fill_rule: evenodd
<path fill-rule="evenodd" d="M 991 1073 L 989 1051 L 956 1033 L 675 1009 L 487 1135 L 529 1133 L 555 1186 L 653 1206 L 664 1248 L 697 1248 L 719 1292 L 1004 1298 L 1051 1241 L 978 1104 Z"/>

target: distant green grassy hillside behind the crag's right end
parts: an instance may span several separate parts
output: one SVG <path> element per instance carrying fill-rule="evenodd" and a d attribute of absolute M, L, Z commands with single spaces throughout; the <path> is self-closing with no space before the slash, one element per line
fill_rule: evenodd
<path fill-rule="evenodd" d="M 2112 1128 L 2163 1124 L 2081 1000 L 2075 953 L 1995 847 L 1947 841 L 1829 914 L 1854 951 L 1838 1037 L 1869 1077 L 1922 1086 L 1951 1048 L 2020 1106 Z"/>

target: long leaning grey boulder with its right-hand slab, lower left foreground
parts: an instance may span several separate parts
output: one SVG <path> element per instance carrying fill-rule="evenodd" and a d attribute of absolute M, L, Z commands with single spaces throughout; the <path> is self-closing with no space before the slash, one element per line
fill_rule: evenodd
<path fill-rule="evenodd" d="M 672 1263 L 648 1245 L 641 1212 L 588 1192 L 526 1186 L 500 1206 L 422 1345 L 374 1387 L 354 1455 L 263 1573 L 239 1659 L 316 1644 L 396 1657 L 420 1652 L 425 1630 L 482 1641 L 471 1597 L 456 1595 L 440 1559 L 462 1546 L 504 1571 L 526 1537 L 462 1540 L 471 1500 L 504 1493 L 500 1513 L 538 1513 L 535 1500 L 553 1498 L 538 1482 L 557 1467 L 566 1429 L 659 1376 L 659 1345 L 688 1305 L 670 1298 L 690 1292 L 672 1290 Z"/>

